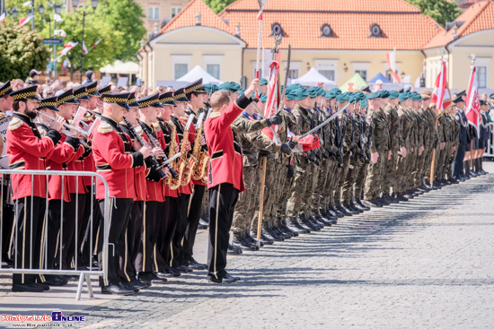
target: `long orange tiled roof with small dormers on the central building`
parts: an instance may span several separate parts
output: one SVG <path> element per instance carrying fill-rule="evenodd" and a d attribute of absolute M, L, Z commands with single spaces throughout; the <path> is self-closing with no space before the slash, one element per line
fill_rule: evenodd
<path fill-rule="evenodd" d="M 241 39 L 247 48 L 257 48 L 258 12 L 257 0 L 238 0 L 225 7 L 219 16 L 201 0 L 192 0 L 161 32 L 193 26 L 195 14 L 201 13 L 203 26 L 231 34 L 240 23 Z M 269 0 L 263 14 L 264 48 L 273 46 L 274 39 L 269 35 L 275 22 L 284 31 L 281 48 L 291 44 L 294 49 L 417 50 L 444 31 L 404 0 Z M 374 23 L 381 27 L 384 38 L 369 38 Z M 321 38 L 323 24 L 331 25 L 334 38 Z"/>

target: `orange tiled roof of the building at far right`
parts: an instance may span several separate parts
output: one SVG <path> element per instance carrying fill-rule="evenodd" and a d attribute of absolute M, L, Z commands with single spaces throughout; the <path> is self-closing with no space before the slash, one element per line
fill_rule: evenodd
<path fill-rule="evenodd" d="M 472 4 L 464 11 L 456 22 L 463 22 L 463 25 L 456 30 L 456 36 L 462 38 L 479 30 L 490 30 L 493 28 L 494 22 L 494 2 L 490 0 L 481 1 L 477 4 Z M 454 29 L 438 33 L 437 36 L 430 40 L 424 48 L 436 48 L 447 45 L 454 41 Z"/>

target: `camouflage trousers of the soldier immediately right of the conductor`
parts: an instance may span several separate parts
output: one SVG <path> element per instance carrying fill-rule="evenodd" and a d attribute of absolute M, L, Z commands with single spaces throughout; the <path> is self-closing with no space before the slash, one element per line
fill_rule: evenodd
<path fill-rule="evenodd" d="M 257 179 L 257 167 L 243 167 L 243 181 L 245 191 L 238 197 L 235 205 L 232 232 L 243 232 L 251 228 L 251 211 L 255 204 L 255 195 L 259 191 L 259 179 Z"/>

